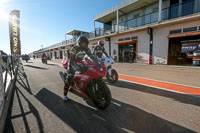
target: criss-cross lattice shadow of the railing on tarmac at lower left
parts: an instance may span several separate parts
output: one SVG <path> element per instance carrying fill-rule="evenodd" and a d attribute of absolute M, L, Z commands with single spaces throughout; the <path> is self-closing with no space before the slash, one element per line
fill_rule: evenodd
<path fill-rule="evenodd" d="M 20 88 L 24 88 L 30 95 L 32 95 L 30 85 L 29 85 L 29 82 L 27 79 L 27 75 L 23 70 L 23 66 L 21 66 L 20 69 L 18 70 L 16 83 L 18 83 L 18 85 L 21 86 Z M 16 85 L 15 85 L 14 89 L 15 89 L 15 93 L 13 93 L 13 96 L 11 99 L 11 104 L 9 106 L 9 112 L 8 112 L 8 117 L 6 120 L 4 132 L 5 133 L 14 133 L 15 132 L 13 124 L 12 124 L 12 119 L 15 119 L 18 117 L 22 117 L 26 132 L 27 133 L 31 132 L 26 115 L 32 113 L 36 118 L 40 133 L 44 133 L 43 124 L 42 124 L 42 121 L 40 119 L 40 115 L 39 115 L 39 112 L 37 111 L 37 109 L 33 106 L 33 104 L 31 104 L 31 102 L 28 100 L 28 98 L 25 97 L 25 95 L 22 93 L 22 91 Z M 20 108 L 21 114 L 12 116 L 13 99 L 14 99 L 15 95 L 16 95 L 17 101 L 19 103 L 19 108 Z M 25 101 L 28 103 L 30 111 L 28 111 L 28 112 L 24 111 L 27 107 L 23 107 L 22 98 L 25 99 Z"/>

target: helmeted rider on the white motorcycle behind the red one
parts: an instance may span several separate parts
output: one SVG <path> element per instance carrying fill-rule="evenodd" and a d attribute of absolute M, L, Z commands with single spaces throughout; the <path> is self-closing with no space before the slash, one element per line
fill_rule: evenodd
<path fill-rule="evenodd" d="M 103 56 L 103 53 L 108 57 L 108 54 L 104 48 L 104 42 L 102 40 L 98 41 L 97 46 L 94 48 L 93 54 L 96 55 L 98 58 Z"/>

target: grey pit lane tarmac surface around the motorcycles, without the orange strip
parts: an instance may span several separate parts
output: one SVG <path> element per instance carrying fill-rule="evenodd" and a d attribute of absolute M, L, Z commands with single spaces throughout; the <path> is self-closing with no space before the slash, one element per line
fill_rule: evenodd
<path fill-rule="evenodd" d="M 108 84 L 112 102 L 98 110 L 90 99 L 69 92 L 62 100 L 59 62 L 23 62 L 5 132 L 121 133 L 200 132 L 200 98 L 119 80 Z M 199 68 L 120 64 L 120 74 L 200 86 Z M 187 74 L 190 74 L 189 76 Z"/>

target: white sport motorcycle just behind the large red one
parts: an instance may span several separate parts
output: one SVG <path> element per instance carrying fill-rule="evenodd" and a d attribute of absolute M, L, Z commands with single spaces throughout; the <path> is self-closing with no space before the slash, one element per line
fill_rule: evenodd
<path fill-rule="evenodd" d="M 118 81 L 119 79 L 119 75 L 117 73 L 117 71 L 115 69 L 112 68 L 112 64 L 114 63 L 114 60 L 112 57 L 105 57 L 102 56 L 101 58 L 99 58 L 99 60 L 101 60 L 105 66 L 107 67 L 107 74 L 106 74 L 106 78 L 110 83 L 115 83 Z"/>

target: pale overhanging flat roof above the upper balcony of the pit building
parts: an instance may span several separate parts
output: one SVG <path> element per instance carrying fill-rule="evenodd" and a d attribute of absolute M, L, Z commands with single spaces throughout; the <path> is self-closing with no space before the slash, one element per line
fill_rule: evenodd
<path fill-rule="evenodd" d="M 116 18 L 116 11 L 118 9 L 119 16 L 121 16 L 156 1 L 158 0 L 125 0 L 124 2 L 96 15 L 94 20 L 101 23 L 106 23 Z"/>

